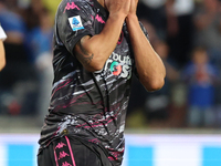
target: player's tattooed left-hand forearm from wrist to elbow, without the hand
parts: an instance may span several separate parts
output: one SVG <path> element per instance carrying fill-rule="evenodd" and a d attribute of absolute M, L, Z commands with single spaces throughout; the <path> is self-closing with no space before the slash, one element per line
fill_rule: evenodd
<path fill-rule="evenodd" d="M 116 48 L 125 18 L 124 14 L 109 15 L 99 34 L 87 37 L 81 41 L 78 50 L 75 51 L 82 52 L 78 58 L 87 71 L 94 72 L 103 69 L 106 60 Z M 85 53 L 90 55 L 90 60 L 84 61 Z"/>

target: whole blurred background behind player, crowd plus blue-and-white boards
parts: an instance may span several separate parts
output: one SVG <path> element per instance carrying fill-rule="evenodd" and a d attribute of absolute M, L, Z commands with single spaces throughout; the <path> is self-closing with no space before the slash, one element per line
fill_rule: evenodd
<path fill-rule="evenodd" d="M 60 1 L 0 0 L 8 35 L 0 72 L 0 166 L 36 166 Z M 220 166 L 221 1 L 140 0 L 137 14 L 167 77 L 155 93 L 133 80 L 123 166 Z"/>

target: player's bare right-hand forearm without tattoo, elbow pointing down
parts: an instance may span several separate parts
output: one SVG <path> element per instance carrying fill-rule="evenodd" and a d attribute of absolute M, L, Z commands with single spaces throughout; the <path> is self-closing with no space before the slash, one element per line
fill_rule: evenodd
<path fill-rule="evenodd" d="M 165 83 L 165 65 L 140 29 L 137 17 L 126 19 L 129 37 L 135 53 L 139 81 L 148 91 L 156 91 Z"/>

